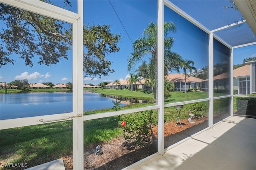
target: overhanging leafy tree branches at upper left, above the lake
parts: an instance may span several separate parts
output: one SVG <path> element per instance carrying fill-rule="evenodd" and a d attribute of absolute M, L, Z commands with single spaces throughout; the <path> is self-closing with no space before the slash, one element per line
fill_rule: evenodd
<path fill-rule="evenodd" d="M 43 0 L 50 3 L 50 0 Z M 70 6 L 69 0 L 64 4 Z M 0 67 L 15 64 L 17 56 L 28 66 L 38 57 L 38 64 L 57 64 L 68 59 L 72 47 L 72 25 L 0 4 Z M 109 53 L 118 52 L 120 35 L 111 33 L 110 25 L 84 24 L 84 72 L 89 75 L 108 75 L 114 72 Z"/>

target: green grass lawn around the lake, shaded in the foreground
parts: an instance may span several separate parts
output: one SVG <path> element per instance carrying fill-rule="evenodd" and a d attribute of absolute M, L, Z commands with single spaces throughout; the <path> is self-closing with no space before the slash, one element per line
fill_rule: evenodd
<path fill-rule="evenodd" d="M 98 89 L 95 92 L 153 100 L 152 91 Z M 208 98 L 208 93 L 171 92 L 171 97 L 166 100 L 166 103 L 202 98 Z M 207 101 L 204 103 L 208 106 Z M 133 104 L 121 109 L 148 105 L 152 104 Z M 113 111 L 113 109 L 86 111 L 84 114 L 105 111 Z M 154 113 L 157 115 L 157 109 L 154 110 Z M 208 114 L 208 109 L 204 111 L 204 114 Z M 166 121 L 177 121 L 176 109 L 174 107 L 165 108 L 164 117 Z M 188 105 L 182 109 L 180 119 L 184 118 L 188 118 Z M 122 129 L 118 127 L 118 120 L 118 116 L 112 116 L 84 121 L 84 146 L 98 145 L 103 141 L 108 142 L 113 138 L 120 137 Z M 31 167 L 72 154 L 72 121 L 4 129 L 0 131 L 0 139 L 0 163 L 28 163 L 28 166 Z"/>

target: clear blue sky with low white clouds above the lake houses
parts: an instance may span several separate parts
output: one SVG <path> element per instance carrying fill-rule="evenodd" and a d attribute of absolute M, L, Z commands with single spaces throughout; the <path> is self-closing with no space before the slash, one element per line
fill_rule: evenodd
<path fill-rule="evenodd" d="M 61 2 L 56 1 L 57 4 Z M 141 37 L 143 30 L 150 22 L 156 23 L 157 21 L 156 0 L 114 0 L 111 3 L 122 23 L 108 0 L 84 1 L 84 21 L 86 23 L 112 25 L 112 33 L 120 34 L 122 37 L 119 43 L 120 52 L 106 56 L 112 62 L 111 68 L 115 72 L 108 76 L 102 76 L 101 79 L 99 77 L 94 77 L 93 80 L 90 77 L 84 78 L 84 84 L 98 84 L 99 82 L 125 79 L 129 74 L 127 63 L 132 52 L 132 42 Z M 72 10 L 76 12 L 75 9 L 76 5 L 74 4 Z M 194 66 L 197 69 L 206 66 L 208 64 L 208 58 L 206 58 L 208 51 L 205 47 L 208 46 L 208 35 L 167 8 L 165 8 L 165 21 L 172 21 L 177 27 L 175 33 L 170 33 L 170 36 L 175 38 L 172 50 L 179 53 L 184 59 L 194 61 Z M 72 82 L 72 51 L 68 53 L 68 60 L 62 60 L 51 66 L 39 65 L 36 63 L 37 59 L 33 60 L 33 67 L 25 66 L 23 60 L 16 55 L 13 56 L 17 60 L 15 65 L 8 64 L 0 68 L 1 82 L 11 82 L 18 79 L 28 79 L 28 82 L 31 83 Z M 256 57 L 256 45 L 234 49 L 234 64 L 241 64 L 243 59 L 248 57 Z M 147 60 L 148 56 L 144 59 Z"/>

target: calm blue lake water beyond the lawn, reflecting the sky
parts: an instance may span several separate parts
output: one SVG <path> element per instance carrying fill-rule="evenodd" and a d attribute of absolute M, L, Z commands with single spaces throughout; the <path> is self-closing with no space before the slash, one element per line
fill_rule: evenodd
<path fill-rule="evenodd" d="M 134 101 L 134 99 L 84 92 L 84 111 L 112 108 L 114 106 L 112 101 L 119 100 L 123 100 L 120 106 Z M 68 112 L 72 112 L 72 92 L 0 94 L 0 120 Z"/>

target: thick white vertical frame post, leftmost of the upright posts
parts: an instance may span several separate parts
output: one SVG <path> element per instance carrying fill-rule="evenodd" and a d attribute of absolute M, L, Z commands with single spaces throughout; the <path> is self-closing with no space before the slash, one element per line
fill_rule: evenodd
<path fill-rule="evenodd" d="M 78 0 L 73 23 L 73 168 L 84 169 L 83 0 Z M 78 116 L 81 115 L 81 116 Z"/>

